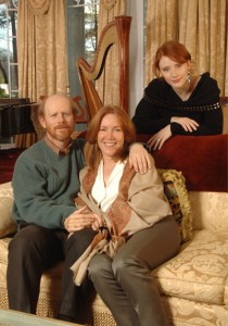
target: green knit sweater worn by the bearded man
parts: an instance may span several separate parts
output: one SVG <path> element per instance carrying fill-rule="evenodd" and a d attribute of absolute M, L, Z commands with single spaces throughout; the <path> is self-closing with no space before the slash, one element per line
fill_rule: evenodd
<path fill-rule="evenodd" d="M 63 220 L 76 210 L 84 145 L 84 139 L 73 140 L 69 153 L 60 156 L 40 140 L 18 156 L 12 179 L 17 223 L 63 228 Z"/>

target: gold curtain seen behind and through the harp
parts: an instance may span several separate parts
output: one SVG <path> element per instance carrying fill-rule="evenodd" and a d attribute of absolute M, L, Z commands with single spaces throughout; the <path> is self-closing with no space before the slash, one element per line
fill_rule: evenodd
<path fill-rule="evenodd" d="M 125 15 L 126 2 L 125 0 L 100 0 L 99 18 L 98 18 L 98 39 L 104 26 L 114 21 L 115 16 Z M 113 47 L 107 54 L 105 62 L 105 70 L 102 76 L 96 84 L 98 93 L 103 103 L 118 104 L 118 70 L 117 65 L 117 50 Z M 112 89 L 112 91 L 110 91 Z M 105 91 L 107 90 L 107 91 Z"/>

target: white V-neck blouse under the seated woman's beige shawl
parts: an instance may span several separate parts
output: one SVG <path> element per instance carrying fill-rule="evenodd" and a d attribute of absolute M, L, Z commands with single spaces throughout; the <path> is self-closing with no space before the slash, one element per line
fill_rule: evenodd
<path fill-rule="evenodd" d="M 126 161 L 118 161 L 110 175 L 107 185 L 104 185 L 103 161 L 98 167 L 98 175 L 91 190 L 91 196 L 96 200 L 102 212 L 106 212 L 118 195 L 118 185 L 122 178 Z"/>

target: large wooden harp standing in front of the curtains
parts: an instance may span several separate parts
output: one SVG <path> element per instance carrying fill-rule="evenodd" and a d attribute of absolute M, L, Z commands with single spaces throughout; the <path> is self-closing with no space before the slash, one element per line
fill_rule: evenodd
<path fill-rule="evenodd" d="M 107 52 L 113 45 L 117 46 L 118 53 L 119 106 L 128 112 L 130 23 L 130 16 L 116 16 L 101 33 L 93 64 L 90 65 L 84 58 L 79 58 L 76 62 L 89 121 L 103 105 L 103 102 L 96 90 L 94 80 L 98 80 L 102 75 L 102 72 L 105 68 Z"/>

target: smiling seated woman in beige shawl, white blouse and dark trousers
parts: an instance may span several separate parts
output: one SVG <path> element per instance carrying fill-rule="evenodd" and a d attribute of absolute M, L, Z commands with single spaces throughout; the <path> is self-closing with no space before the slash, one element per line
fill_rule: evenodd
<path fill-rule="evenodd" d="M 165 326 L 168 318 L 151 269 L 176 255 L 180 234 L 154 166 L 129 168 L 127 148 L 136 131 L 127 114 L 112 105 L 98 111 L 87 130 L 76 204 L 94 213 L 98 231 L 72 266 L 80 285 L 86 273 L 119 326 Z"/>

